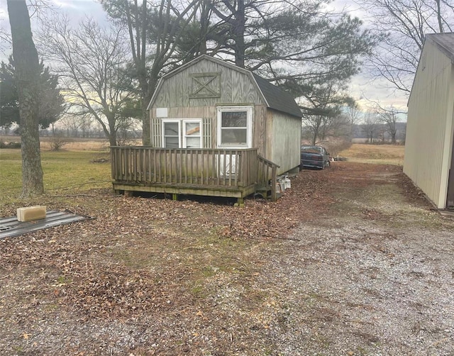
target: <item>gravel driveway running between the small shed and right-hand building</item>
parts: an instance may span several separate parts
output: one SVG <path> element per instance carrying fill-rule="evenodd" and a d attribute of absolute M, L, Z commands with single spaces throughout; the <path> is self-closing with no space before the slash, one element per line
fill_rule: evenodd
<path fill-rule="evenodd" d="M 267 267 L 260 285 L 288 296 L 284 355 L 454 355 L 453 221 L 391 171 L 331 172 L 328 215 Z"/>

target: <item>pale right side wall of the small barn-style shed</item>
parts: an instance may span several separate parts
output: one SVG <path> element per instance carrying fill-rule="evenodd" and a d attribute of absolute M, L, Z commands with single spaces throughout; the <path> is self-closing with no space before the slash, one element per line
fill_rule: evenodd
<path fill-rule="evenodd" d="M 277 174 L 282 174 L 299 166 L 301 120 L 278 111 L 270 111 L 269 116 L 267 140 L 270 141 L 270 152 L 267 154 L 272 162 L 278 162 Z"/>

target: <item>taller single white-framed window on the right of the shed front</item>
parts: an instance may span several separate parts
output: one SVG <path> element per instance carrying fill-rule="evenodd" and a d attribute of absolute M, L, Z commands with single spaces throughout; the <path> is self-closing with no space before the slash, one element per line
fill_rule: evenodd
<path fill-rule="evenodd" d="M 252 147 L 252 106 L 218 107 L 218 147 Z"/>

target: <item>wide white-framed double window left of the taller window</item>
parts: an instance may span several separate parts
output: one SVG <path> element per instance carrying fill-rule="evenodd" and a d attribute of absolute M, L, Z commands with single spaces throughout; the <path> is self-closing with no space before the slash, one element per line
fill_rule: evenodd
<path fill-rule="evenodd" d="M 162 121 L 163 148 L 201 148 L 201 120 Z"/>

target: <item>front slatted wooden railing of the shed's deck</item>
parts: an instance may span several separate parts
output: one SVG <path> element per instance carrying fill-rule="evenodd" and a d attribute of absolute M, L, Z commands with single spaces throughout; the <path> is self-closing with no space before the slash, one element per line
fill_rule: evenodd
<path fill-rule="evenodd" d="M 138 184 L 247 187 L 258 182 L 257 149 L 111 147 L 112 178 Z"/>

